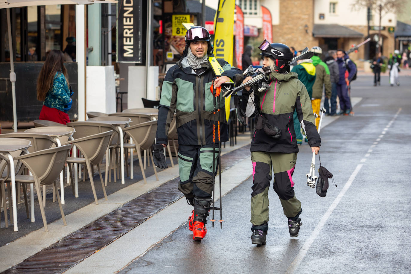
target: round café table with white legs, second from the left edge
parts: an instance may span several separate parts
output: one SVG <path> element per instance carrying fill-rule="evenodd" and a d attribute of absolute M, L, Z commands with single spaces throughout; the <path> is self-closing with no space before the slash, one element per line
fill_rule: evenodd
<path fill-rule="evenodd" d="M 67 136 L 70 140 L 74 140 L 73 134 L 76 132 L 76 130 L 72 127 L 66 127 L 66 126 L 61 126 L 61 127 L 35 127 L 32 129 L 26 129 L 24 132 L 32 132 L 32 133 L 38 133 L 38 134 L 45 134 L 50 137 L 53 137 L 54 140 L 57 142 L 57 145 L 60 147 L 61 142 L 59 137 L 62 136 Z M 76 152 L 76 147 L 73 147 L 73 157 L 77 157 L 77 152 Z M 77 174 L 77 166 L 74 165 L 74 174 Z M 75 177 L 75 182 L 74 182 L 74 195 L 76 198 L 79 197 L 79 186 L 78 186 L 78 180 L 77 177 Z M 67 176 L 67 180 L 69 180 L 69 176 Z M 46 186 L 43 186 L 43 191 L 45 191 Z M 60 173 L 60 193 L 61 193 L 61 203 L 64 204 L 64 175 L 63 171 Z M 33 193 L 32 193 L 33 194 Z M 54 199 L 54 198 L 53 198 Z"/>

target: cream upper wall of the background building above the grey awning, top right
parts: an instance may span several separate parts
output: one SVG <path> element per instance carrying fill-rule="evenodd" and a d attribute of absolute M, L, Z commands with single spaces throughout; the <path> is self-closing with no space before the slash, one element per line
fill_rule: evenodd
<path fill-rule="evenodd" d="M 330 14 L 330 2 L 337 2 L 336 14 Z M 352 4 L 356 0 L 315 0 L 314 4 L 314 24 L 338 24 L 338 25 L 367 25 L 367 9 L 352 9 Z M 319 19 L 319 14 L 324 14 L 324 19 Z M 379 25 L 378 14 L 373 11 L 373 22 L 370 25 Z M 391 19 L 391 22 L 389 22 Z M 383 16 L 381 25 L 395 26 L 397 16 L 389 13 Z"/>

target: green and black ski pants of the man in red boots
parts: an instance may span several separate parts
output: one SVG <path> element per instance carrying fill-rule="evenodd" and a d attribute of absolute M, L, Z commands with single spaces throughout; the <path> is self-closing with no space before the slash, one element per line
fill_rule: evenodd
<path fill-rule="evenodd" d="M 187 198 L 189 204 L 196 200 L 210 200 L 218 166 L 218 144 L 215 145 L 214 174 L 213 145 L 178 145 L 178 171 L 180 183 L 178 189 Z"/>

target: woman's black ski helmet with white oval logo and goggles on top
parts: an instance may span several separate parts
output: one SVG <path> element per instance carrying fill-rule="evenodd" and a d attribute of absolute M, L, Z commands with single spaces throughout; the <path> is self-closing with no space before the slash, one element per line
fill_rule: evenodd
<path fill-rule="evenodd" d="M 277 72 L 289 71 L 289 64 L 293 59 L 293 53 L 287 45 L 268 42 L 266 39 L 258 47 L 260 55 L 270 57 L 275 61 Z"/>

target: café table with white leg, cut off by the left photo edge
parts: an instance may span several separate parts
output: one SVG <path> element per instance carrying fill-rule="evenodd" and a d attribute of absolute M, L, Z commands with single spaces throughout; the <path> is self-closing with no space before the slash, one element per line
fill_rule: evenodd
<path fill-rule="evenodd" d="M 13 207 L 13 230 L 18 231 L 17 228 L 17 198 L 16 198 L 16 178 L 14 170 L 14 159 L 10 152 L 15 152 L 22 150 L 28 153 L 27 148 L 31 147 L 31 142 L 29 140 L 18 139 L 18 138 L 0 138 L 0 153 L 5 154 L 9 159 L 10 163 L 10 177 L 12 180 L 12 207 Z M 4 210 L 7 210 L 5 207 Z"/>

